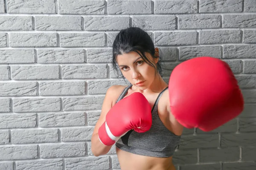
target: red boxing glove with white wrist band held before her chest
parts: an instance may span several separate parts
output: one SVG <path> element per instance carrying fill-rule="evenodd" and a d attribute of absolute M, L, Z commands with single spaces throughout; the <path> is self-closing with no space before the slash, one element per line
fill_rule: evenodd
<path fill-rule="evenodd" d="M 99 127 L 99 140 L 109 146 L 129 130 L 146 132 L 152 125 L 151 107 L 148 100 L 135 92 L 116 103 L 108 111 L 105 122 Z"/>

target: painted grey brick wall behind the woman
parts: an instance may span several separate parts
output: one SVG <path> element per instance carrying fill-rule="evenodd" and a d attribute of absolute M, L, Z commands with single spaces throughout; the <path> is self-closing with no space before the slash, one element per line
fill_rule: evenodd
<path fill-rule="evenodd" d="M 114 147 L 92 155 L 90 137 L 106 90 L 125 84 L 111 46 L 129 26 L 166 67 L 221 58 L 243 89 L 238 118 L 184 130 L 177 170 L 256 169 L 256 0 L 0 0 L 0 170 L 120 168 Z"/>

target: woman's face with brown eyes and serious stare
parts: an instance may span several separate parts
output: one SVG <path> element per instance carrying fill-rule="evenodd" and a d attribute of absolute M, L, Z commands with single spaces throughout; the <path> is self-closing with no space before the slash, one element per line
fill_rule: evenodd
<path fill-rule="evenodd" d="M 148 60 L 155 65 L 158 61 L 149 53 L 146 53 Z M 148 88 L 155 79 L 155 68 L 148 65 L 137 52 L 131 51 L 127 54 L 118 55 L 116 62 L 123 76 L 141 90 Z"/>

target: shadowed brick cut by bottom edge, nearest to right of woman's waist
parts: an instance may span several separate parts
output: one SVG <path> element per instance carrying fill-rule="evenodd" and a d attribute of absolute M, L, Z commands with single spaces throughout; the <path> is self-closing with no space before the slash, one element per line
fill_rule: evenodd
<path fill-rule="evenodd" d="M 221 170 L 221 164 L 189 164 L 181 165 L 180 170 Z"/>

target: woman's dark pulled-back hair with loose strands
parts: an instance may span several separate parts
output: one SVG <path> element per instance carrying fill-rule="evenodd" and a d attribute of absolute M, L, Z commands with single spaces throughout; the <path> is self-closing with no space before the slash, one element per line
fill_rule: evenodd
<path fill-rule="evenodd" d="M 116 73 L 118 73 L 119 68 L 116 62 L 117 55 L 127 54 L 131 51 L 137 52 L 148 65 L 151 65 L 155 68 L 154 64 L 150 62 L 145 55 L 145 52 L 148 52 L 153 58 L 157 58 L 157 56 L 155 56 L 154 43 L 151 37 L 141 28 L 129 27 L 122 29 L 116 35 L 116 38 L 113 42 L 112 65 L 113 70 L 115 70 Z M 155 75 L 158 72 L 160 76 L 162 76 L 162 65 L 160 57 L 156 65 L 157 68 L 155 68 Z"/>

